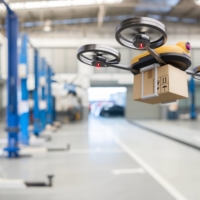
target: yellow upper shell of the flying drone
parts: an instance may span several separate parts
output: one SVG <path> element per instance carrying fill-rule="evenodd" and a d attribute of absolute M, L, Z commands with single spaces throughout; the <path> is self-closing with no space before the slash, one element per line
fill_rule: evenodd
<path fill-rule="evenodd" d="M 181 41 L 181 42 L 178 42 L 176 45 L 162 46 L 162 47 L 159 47 L 157 49 L 154 49 L 154 51 L 157 54 L 178 53 L 178 54 L 186 54 L 189 57 L 191 57 L 190 50 L 188 50 L 186 48 L 186 44 L 187 44 L 187 42 Z M 144 58 L 144 57 L 149 56 L 149 55 L 150 55 L 149 52 L 145 51 L 144 53 L 141 53 L 141 54 L 135 56 L 131 61 L 131 65 L 139 62 L 141 58 Z"/>

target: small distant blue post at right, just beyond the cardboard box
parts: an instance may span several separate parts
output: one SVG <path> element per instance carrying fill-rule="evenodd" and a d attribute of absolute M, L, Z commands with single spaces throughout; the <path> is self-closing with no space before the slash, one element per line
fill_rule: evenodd
<path fill-rule="evenodd" d="M 189 91 L 191 94 L 190 119 L 195 120 L 197 118 L 197 113 L 195 104 L 195 81 L 193 77 L 191 77 L 189 82 Z"/>

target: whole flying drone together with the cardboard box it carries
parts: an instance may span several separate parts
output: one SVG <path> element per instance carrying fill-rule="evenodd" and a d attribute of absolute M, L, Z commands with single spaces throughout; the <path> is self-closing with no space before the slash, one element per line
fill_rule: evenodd
<path fill-rule="evenodd" d="M 146 51 L 135 56 L 130 66 L 120 64 L 120 52 L 104 45 L 84 45 L 78 49 L 77 58 L 87 65 L 132 72 L 135 75 L 136 101 L 155 104 L 187 98 L 186 74 L 200 80 L 200 67 L 189 69 L 192 64 L 190 43 L 163 46 L 167 41 L 166 28 L 158 20 L 147 17 L 124 20 L 117 25 L 115 38 L 122 46 Z M 167 82 L 161 85 L 161 80 Z M 146 90 L 150 93 L 145 94 Z"/>

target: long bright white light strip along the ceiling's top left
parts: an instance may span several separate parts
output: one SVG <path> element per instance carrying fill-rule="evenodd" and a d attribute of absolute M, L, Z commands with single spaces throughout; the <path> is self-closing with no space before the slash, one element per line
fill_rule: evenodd
<path fill-rule="evenodd" d="M 85 6 L 98 4 L 115 4 L 121 3 L 123 0 L 57 0 L 57 1 L 28 1 L 10 3 L 9 6 L 13 10 L 27 10 L 27 9 L 44 9 L 44 8 L 59 8 L 70 6 Z M 0 4 L 0 10 L 5 10 L 5 7 Z"/>

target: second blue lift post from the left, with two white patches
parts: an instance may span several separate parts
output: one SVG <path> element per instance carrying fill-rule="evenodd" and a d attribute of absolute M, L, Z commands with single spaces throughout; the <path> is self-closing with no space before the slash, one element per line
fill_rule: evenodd
<path fill-rule="evenodd" d="M 19 55 L 19 70 L 21 78 L 21 99 L 19 101 L 19 124 L 20 124 L 20 141 L 22 144 L 29 144 L 29 104 L 28 104 L 28 88 L 27 88 L 27 75 L 28 75 L 28 61 L 27 61 L 27 43 L 28 36 L 21 35 L 21 48 Z"/>

